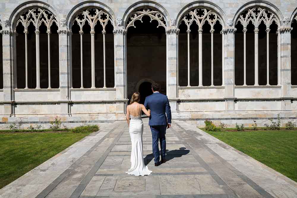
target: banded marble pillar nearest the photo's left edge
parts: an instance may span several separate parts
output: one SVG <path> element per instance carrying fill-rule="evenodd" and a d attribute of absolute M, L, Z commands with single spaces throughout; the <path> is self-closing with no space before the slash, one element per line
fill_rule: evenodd
<path fill-rule="evenodd" d="M 12 33 L 10 30 L 1 30 L 3 50 L 3 110 L 4 117 L 12 115 L 13 84 L 12 84 Z"/>

